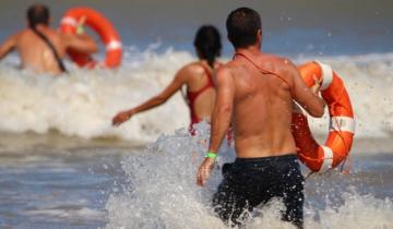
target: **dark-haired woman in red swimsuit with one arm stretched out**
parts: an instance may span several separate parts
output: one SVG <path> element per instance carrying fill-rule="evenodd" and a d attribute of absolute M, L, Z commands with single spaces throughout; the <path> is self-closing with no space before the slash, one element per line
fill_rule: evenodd
<path fill-rule="evenodd" d="M 191 114 L 190 132 L 193 133 L 193 124 L 202 120 L 210 121 L 215 99 L 214 72 L 221 65 L 216 61 L 222 50 L 221 35 L 217 28 L 211 25 L 200 27 L 195 35 L 194 47 L 199 61 L 183 67 L 160 94 L 140 106 L 116 114 L 112 124 L 119 125 L 135 113 L 164 104 L 176 92 L 181 91 L 182 85 L 187 85 L 187 100 Z"/>

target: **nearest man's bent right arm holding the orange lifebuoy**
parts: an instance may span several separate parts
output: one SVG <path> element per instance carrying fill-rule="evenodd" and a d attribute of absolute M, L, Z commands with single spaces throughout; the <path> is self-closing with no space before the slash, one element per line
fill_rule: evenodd
<path fill-rule="evenodd" d="M 307 87 L 305 82 L 301 79 L 301 75 L 291 62 L 287 62 L 287 71 L 293 76 L 293 92 L 294 99 L 299 103 L 299 105 L 306 109 L 308 113 L 312 117 L 320 118 L 323 116 L 325 103 L 321 97 L 318 96 L 319 93 L 319 82 L 315 82 L 313 88 Z"/>

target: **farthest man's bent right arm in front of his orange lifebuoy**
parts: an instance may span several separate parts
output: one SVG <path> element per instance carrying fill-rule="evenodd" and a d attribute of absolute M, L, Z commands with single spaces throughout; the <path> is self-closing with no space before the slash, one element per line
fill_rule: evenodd
<path fill-rule="evenodd" d="M 62 34 L 67 48 L 75 49 L 80 52 L 94 53 L 98 51 L 96 41 L 87 34 Z"/>

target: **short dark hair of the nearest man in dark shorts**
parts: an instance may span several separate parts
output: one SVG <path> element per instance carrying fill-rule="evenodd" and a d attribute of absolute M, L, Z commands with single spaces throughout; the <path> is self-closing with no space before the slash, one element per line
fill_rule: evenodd
<path fill-rule="evenodd" d="M 239 8 L 229 13 L 226 27 L 234 47 L 247 48 L 257 43 L 257 33 L 262 29 L 261 16 L 250 8 Z"/>

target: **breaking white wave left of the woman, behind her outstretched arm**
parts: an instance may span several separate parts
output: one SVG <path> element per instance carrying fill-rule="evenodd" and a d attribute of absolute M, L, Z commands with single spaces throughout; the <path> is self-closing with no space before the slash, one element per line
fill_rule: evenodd
<path fill-rule="evenodd" d="M 0 131 L 146 141 L 188 123 L 187 106 L 180 95 L 166 106 L 135 116 L 120 128 L 111 118 L 155 95 L 177 70 L 192 61 L 188 52 L 138 53 L 116 71 L 71 70 L 67 76 L 33 75 L 9 64 L 0 65 Z M 159 117 L 159 118 L 157 118 Z"/>

